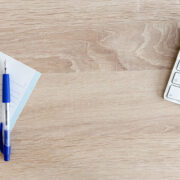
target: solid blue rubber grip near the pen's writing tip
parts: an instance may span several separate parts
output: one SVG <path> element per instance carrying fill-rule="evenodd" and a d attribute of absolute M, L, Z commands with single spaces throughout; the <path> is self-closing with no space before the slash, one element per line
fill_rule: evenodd
<path fill-rule="evenodd" d="M 9 103 L 10 99 L 10 79 L 9 74 L 3 74 L 3 92 L 2 92 L 2 101 L 3 103 Z"/>

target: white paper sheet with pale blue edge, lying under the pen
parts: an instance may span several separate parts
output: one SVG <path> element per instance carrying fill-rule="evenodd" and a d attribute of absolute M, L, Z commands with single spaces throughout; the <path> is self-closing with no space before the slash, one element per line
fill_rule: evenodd
<path fill-rule="evenodd" d="M 4 60 L 7 62 L 7 73 L 10 75 L 10 129 L 12 130 L 16 120 L 23 110 L 30 94 L 32 93 L 40 73 L 27 65 L 0 52 L 0 101 L 2 102 L 2 74 L 4 70 Z M 0 103 L 0 112 L 2 103 Z M 2 113 L 0 113 L 2 115 Z M 1 117 L 2 119 L 2 117 Z"/>

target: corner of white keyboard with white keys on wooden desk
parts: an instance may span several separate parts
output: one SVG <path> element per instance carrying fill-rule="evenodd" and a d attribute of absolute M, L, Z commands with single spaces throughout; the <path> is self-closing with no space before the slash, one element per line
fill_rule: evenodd
<path fill-rule="evenodd" d="M 180 51 L 166 86 L 164 99 L 180 104 Z"/>

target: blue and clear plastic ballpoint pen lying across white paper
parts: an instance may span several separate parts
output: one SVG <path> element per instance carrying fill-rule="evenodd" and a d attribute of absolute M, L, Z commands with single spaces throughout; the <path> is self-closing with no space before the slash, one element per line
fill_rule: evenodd
<path fill-rule="evenodd" d="M 6 60 L 4 62 L 4 74 L 2 84 L 2 102 L 4 103 L 4 122 L 3 122 L 3 154 L 4 160 L 9 161 L 11 155 L 10 144 L 10 118 L 9 118 L 9 103 L 10 103 L 10 79 L 7 73 Z"/>

